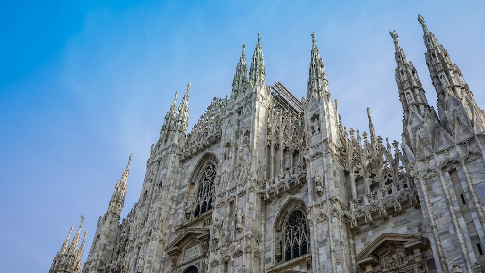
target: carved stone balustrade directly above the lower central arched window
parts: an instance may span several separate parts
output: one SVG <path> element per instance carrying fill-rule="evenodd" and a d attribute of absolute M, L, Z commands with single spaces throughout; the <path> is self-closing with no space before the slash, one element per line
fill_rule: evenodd
<path fill-rule="evenodd" d="M 265 199 L 271 199 L 302 183 L 307 182 L 307 166 L 300 164 L 265 181 Z"/>

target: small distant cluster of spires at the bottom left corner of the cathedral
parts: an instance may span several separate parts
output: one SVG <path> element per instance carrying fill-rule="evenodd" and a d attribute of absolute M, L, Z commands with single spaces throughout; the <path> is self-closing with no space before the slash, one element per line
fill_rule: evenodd
<path fill-rule="evenodd" d="M 82 239 L 81 246 L 78 248 L 79 236 L 81 232 L 82 224 L 84 223 L 84 216 L 81 216 L 81 224 L 79 225 L 78 231 L 74 235 L 71 244 L 69 245 L 69 239 L 71 237 L 72 229 L 74 228 L 74 223 L 71 225 L 69 234 L 65 238 L 61 250 L 57 252 L 52 266 L 50 267 L 49 273 L 80 273 L 81 272 L 81 258 L 84 253 L 84 242 L 88 236 L 88 232 L 84 231 L 84 238 Z"/>

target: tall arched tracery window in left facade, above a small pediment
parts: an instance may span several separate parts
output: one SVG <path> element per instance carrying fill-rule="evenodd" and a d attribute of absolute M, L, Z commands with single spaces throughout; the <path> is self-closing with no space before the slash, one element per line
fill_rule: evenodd
<path fill-rule="evenodd" d="M 216 165 L 210 161 L 199 176 L 199 185 L 197 188 L 197 199 L 195 201 L 194 216 L 198 216 L 212 209 L 215 177 Z"/>

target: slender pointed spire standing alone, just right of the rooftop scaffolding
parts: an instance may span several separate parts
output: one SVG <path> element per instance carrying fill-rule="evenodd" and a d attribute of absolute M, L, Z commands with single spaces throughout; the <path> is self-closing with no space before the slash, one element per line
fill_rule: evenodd
<path fill-rule="evenodd" d="M 311 48 L 311 60 L 310 68 L 308 70 L 308 97 L 314 94 L 317 99 L 322 95 L 328 93 L 328 80 L 325 73 L 325 64 L 323 64 L 322 57 L 320 57 L 320 51 L 317 47 L 315 39 L 315 32 L 311 34 L 312 48 Z"/>

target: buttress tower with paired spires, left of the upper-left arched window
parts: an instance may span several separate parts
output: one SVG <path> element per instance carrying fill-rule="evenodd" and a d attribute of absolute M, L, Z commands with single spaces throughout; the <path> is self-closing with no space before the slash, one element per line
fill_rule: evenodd
<path fill-rule="evenodd" d="M 178 109 L 175 93 L 160 138 L 152 145 L 136 210 L 126 220 L 130 228 L 128 253 L 124 256 L 127 272 L 154 272 L 171 266 L 165 247 L 173 229 L 173 211 L 178 205 L 174 193 L 181 185 L 180 162 L 189 120 L 189 91 L 190 83 Z"/>

